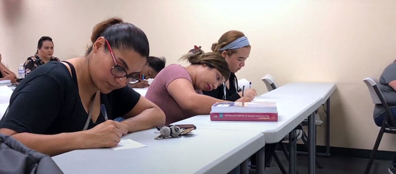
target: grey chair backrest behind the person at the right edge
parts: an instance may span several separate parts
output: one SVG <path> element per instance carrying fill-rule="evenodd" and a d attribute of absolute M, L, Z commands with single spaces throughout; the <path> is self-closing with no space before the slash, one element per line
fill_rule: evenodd
<path fill-rule="evenodd" d="M 379 90 L 378 84 L 379 81 L 375 77 L 367 77 L 363 79 L 363 82 L 366 84 L 368 91 L 370 92 L 371 95 L 371 100 L 373 100 L 374 104 L 382 104 L 382 106 L 385 108 L 385 111 L 387 113 L 387 116 L 384 119 L 384 123 L 388 124 L 388 127 L 394 128 L 396 125 L 395 118 L 391 112 L 391 109 L 389 108 L 389 105 L 386 103 L 384 96 L 382 95 L 381 90 Z M 390 122 L 388 122 L 388 120 Z M 384 125 L 383 123 L 383 125 Z M 389 124 L 391 123 L 391 124 Z"/>

